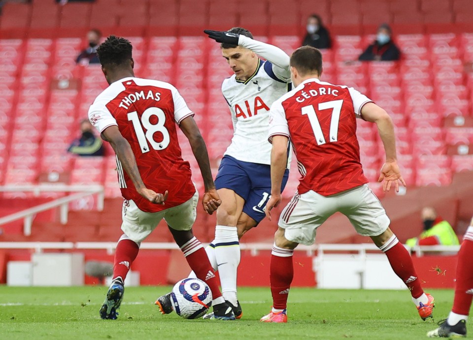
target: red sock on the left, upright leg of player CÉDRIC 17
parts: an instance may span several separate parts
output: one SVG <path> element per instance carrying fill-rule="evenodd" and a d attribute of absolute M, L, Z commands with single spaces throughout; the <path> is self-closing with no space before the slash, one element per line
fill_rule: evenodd
<path fill-rule="evenodd" d="M 279 248 L 273 245 L 270 264 L 270 283 L 272 307 L 286 309 L 289 287 L 294 277 L 292 255 L 294 250 Z"/>

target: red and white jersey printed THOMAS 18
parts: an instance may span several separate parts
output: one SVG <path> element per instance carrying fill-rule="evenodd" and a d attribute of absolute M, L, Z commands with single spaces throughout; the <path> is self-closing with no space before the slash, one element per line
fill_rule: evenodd
<path fill-rule="evenodd" d="M 117 157 L 122 195 L 140 210 L 158 212 L 194 195 L 190 165 L 182 159 L 175 124 L 193 114 L 172 85 L 132 77 L 112 83 L 91 105 L 89 119 L 99 132 L 117 125 L 130 143 L 146 188 L 158 193 L 169 191 L 165 205 L 149 202 L 136 191 Z"/>

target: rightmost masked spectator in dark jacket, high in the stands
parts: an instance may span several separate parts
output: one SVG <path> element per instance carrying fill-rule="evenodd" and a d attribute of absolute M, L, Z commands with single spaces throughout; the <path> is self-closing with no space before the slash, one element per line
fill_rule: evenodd
<path fill-rule="evenodd" d="M 388 24 L 382 24 L 378 27 L 376 40 L 368 46 L 358 60 L 361 61 L 392 61 L 399 60 L 401 52 L 393 42 L 391 27 Z"/>

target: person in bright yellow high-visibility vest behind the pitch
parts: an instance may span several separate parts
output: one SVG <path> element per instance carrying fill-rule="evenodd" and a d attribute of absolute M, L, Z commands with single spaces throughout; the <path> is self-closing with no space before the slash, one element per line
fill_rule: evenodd
<path fill-rule="evenodd" d="M 432 207 L 422 209 L 424 231 L 419 237 L 409 238 L 405 244 L 409 247 L 421 246 L 452 246 L 460 244 L 452 226 L 444 221 Z"/>

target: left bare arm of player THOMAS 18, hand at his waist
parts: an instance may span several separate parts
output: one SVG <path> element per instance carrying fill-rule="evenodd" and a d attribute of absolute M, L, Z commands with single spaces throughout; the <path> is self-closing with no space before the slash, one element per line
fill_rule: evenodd
<path fill-rule="evenodd" d="M 108 141 L 113 150 L 122 163 L 123 169 L 135 185 L 136 191 L 152 203 L 164 204 L 168 198 L 168 190 L 164 194 L 156 193 L 151 189 L 147 189 L 139 174 L 138 166 L 136 165 L 135 155 L 128 141 L 122 136 L 118 126 L 112 125 L 107 127 L 101 133 L 104 140 Z"/>

